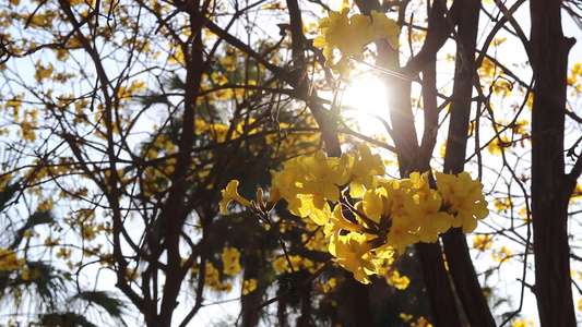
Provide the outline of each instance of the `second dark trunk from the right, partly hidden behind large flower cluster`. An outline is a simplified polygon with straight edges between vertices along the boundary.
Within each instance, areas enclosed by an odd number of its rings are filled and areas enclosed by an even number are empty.
[[[464,170],[468,138],[474,78],[476,78],[475,51],[479,17],[479,1],[455,1],[463,13],[459,16],[456,65],[453,86],[454,99],[450,108],[449,135],[444,156],[444,172]],[[460,228],[451,229],[442,237],[444,254],[449,263],[456,294],[471,326],[492,326],[495,319],[475,274],[468,253],[466,237]]]

